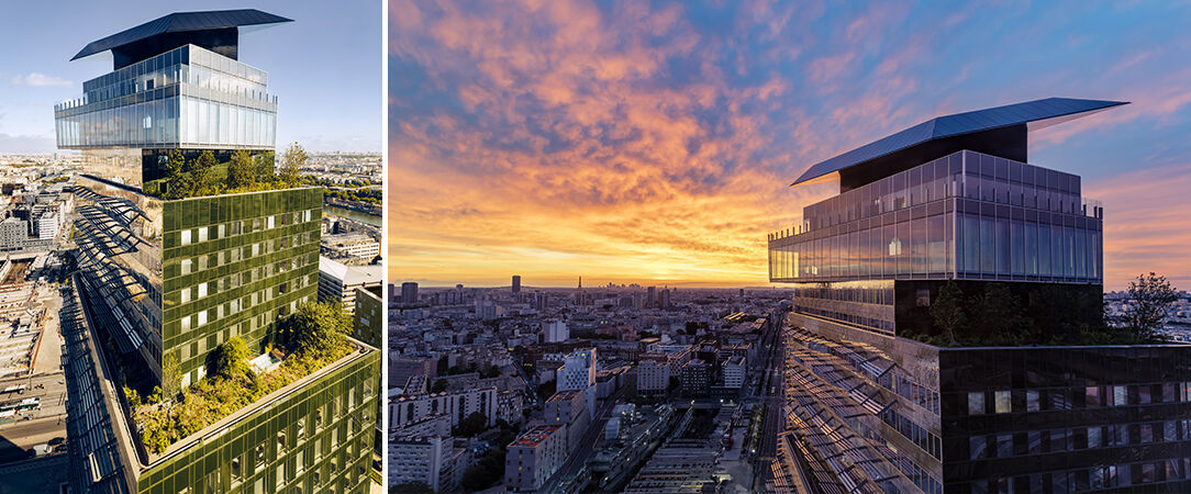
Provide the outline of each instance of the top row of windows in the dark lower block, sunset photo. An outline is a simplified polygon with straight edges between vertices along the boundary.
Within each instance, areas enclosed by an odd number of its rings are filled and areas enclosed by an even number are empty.
[[[967,414],[1042,412],[1191,401],[1191,382],[968,392]]]

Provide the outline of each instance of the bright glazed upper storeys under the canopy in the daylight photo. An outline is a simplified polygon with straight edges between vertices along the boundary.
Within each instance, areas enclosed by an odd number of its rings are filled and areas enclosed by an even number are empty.
[[[185,45],[83,82],[55,106],[58,148],[272,149],[278,99],[257,68]]]

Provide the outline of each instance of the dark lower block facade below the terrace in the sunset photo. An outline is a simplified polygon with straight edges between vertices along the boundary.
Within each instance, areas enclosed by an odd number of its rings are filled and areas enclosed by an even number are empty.
[[[947,492],[1187,492],[1185,345],[943,349]]]

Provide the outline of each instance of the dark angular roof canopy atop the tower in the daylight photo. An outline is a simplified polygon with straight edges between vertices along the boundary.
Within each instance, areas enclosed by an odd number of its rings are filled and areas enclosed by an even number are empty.
[[[255,8],[175,12],[92,42],[70,60],[111,50],[116,65],[113,70],[118,70],[185,44],[199,45],[236,60],[239,27],[292,21]]]

